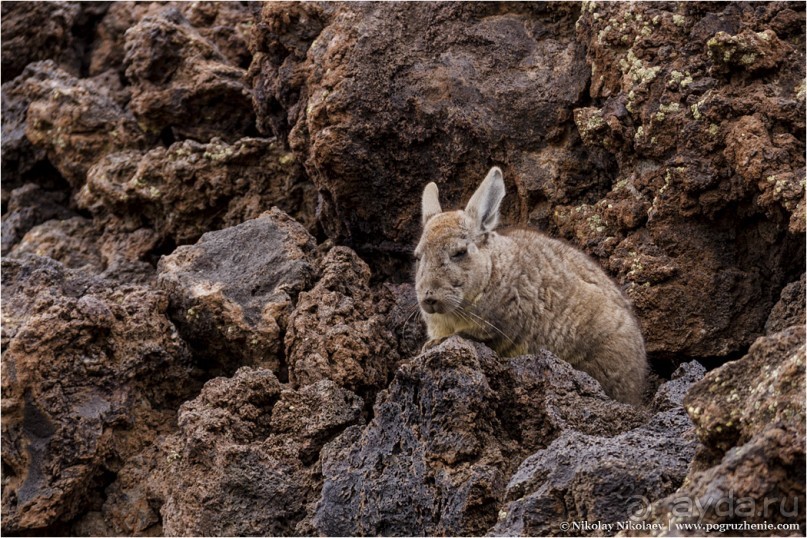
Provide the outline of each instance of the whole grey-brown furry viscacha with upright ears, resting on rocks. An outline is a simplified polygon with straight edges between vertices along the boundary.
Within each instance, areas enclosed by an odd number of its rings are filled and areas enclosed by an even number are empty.
[[[630,304],[602,269],[537,231],[494,231],[504,197],[498,168],[464,211],[442,212],[437,196],[429,184],[415,249],[418,302],[430,338],[424,349],[454,334],[486,342],[504,357],[546,348],[598,380],[612,398],[640,403],[644,341]]]

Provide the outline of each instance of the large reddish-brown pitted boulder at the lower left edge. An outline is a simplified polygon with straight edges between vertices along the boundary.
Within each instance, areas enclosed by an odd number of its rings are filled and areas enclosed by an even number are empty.
[[[81,515],[193,388],[166,296],[3,261],[3,531]]]

